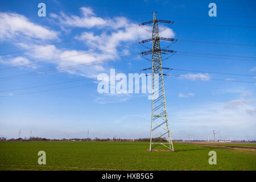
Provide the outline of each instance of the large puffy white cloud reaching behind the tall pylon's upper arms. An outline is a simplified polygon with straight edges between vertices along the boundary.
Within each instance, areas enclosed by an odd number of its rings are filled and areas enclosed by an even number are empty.
[[[93,13],[93,10],[89,7],[81,7],[82,16],[71,15],[67,16],[63,13],[60,16],[52,14],[52,18],[58,18],[62,25],[72,27],[85,27],[85,28],[105,28],[108,27],[110,33],[103,32],[95,33],[96,31],[84,31],[79,36],[76,36],[79,40],[84,40],[87,46],[92,48],[106,48],[116,47],[121,42],[131,42],[134,40],[141,40],[150,37],[143,28],[139,27],[138,24],[132,23],[129,19],[123,16],[117,16],[114,18],[101,18]],[[122,29],[120,29],[122,28]],[[144,28],[151,29],[150,26],[144,26]],[[164,27],[161,27],[164,28]],[[167,38],[173,38],[174,32],[171,28],[166,28],[161,33],[162,36]],[[115,50],[112,50],[115,52]]]

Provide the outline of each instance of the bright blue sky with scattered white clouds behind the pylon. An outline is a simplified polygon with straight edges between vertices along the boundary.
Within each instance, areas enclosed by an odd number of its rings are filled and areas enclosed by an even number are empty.
[[[19,130],[21,137],[30,137],[31,130],[33,136],[47,138],[85,138],[88,130],[91,138],[150,137],[147,94],[100,94],[96,78],[110,68],[127,74],[151,67],[137,55],[146,51],[137,42],[151,34],[136,24],[158,11],[157,18],[175,22],[170,27],[159,24],[167,28],[160,36],[180,40],[169,48],[177,55],[163,61],[164,67],[174,68],[174,76],[164,80],[172,137],[205,139],[216,130],[218,139],[256,139],[255,1],[43,1],[46,17],[39,17],[40,2],[0,2],[0,137],[17,138]],[[217,5],[217,17],[208,16],[211,2]],[[32,64],[38,61],[42,64]],[[91,65],[61,70],[81,64]],[[60,82],[67,83],[12,90]]]

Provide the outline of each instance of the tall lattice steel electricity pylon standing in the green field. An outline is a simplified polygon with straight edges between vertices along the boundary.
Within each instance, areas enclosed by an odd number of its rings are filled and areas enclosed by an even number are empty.
[[[167,118],[166,96],[164,94],[163,82],[163,76],[166,75],[163,73],[163,69],[169,69],[170,71],[171,69],[162,67],[161,54],[173,54],[175,53],[175,51],[161,49],[160,40],[167,40],[171,42],[177,40],[159,37],[158,22],[172,23],[169,20],[156,19],[155,12],[153,12],[153,20],[140,24],[140,26],[144,26],[145,24],[150,23],[153,24],[152,38],[139,42],[139,44],[143,44],[152,41],[152,49],[150,49],[149,51],[139,53],[139,55],[141,56],[150,55],[152,53],[152,67],[142,69],[142,71],[152,69],[152,115],[149,151],[151,151],[156,146],[160,145],[163,145],[164,147],[167,147],[169,150],[174,151],[170,127]]]

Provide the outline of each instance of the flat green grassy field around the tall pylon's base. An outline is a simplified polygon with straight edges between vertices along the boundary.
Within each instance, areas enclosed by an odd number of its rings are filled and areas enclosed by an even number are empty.
[[[255,170],[256,152],[174,143],[176,152],[147,152],[148,142],[0,142],[0,170]],[[46,165],[38,152],[46,152]],[[209,151],[217,164],[208,163]]]

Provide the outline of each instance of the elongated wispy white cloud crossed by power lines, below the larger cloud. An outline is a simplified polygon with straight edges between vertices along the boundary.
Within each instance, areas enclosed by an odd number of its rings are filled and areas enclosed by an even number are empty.
[[[26,55],[32,59],[56,64],[57,69],[61,72],[90,78],[95,78],[99,72],[104,71],[104,67],[100,63],[117,59],[117,56],[106,52],[58,49],[53,45],[35,47]],[[105,66],[105,68],[107,67]]]

